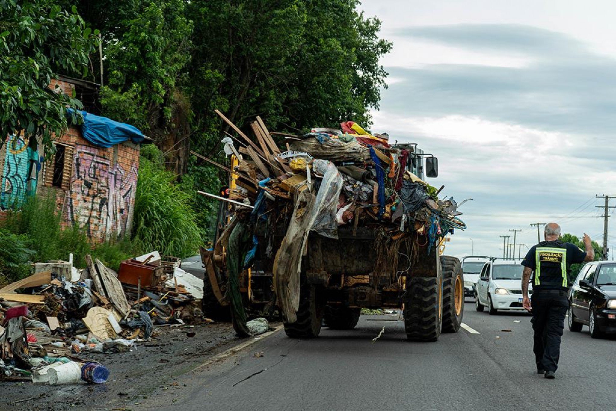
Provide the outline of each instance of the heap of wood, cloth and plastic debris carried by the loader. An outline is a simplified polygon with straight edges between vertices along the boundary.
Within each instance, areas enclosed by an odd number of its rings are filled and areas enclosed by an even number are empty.
[[[430,250],[450,230],[466,228],[453,197],[440,199],[443,187],[436,189],[411,172],[422,158],[412,144],[392,145],[387,134],[371,134],[352,121],[341,123],[341,129],[315,128],[304,136],[270,134],[259,117],[250,124],[253,140],[217,114],[241,137],[222,140],[225,153],[237,162],[232,160],[228,168],[193,154],[233,177],[228,195],[200,194],[229,203],[232,218],[211,258],[224,261],[227,298],[240,335],[249,332],[243,327],[238,278],[256,255],[275,255],[277,304],[285,322],[292,323],[310,232],[337,239],[341,227],[348,227],[353,235],[362,227],[374,229],[375,272],[389,275],[395,283],[400,279],[398,250],[413,249],[408,246],[413,241],[427,244]],[[286,150],[278,147],[272,134],[285,137]],[[274,238],[280,227],[283,239],[277,243]],[[257,237],[263,235],[269,239],[259,242]]]

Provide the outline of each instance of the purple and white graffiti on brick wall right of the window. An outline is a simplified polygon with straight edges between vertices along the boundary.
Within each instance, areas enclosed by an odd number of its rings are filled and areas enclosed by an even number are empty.
[[[111,165],[97,149],[75,146],[68,217],[91,238],[124,235],[131,227],[131,208],[137,189],[137,167]]]

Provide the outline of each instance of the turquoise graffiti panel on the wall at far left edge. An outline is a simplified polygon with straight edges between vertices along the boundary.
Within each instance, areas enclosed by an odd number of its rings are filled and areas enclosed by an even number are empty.
[[[13,208],[36,191],[40,163],[36,150],[22,137],[7,137],[4,168],[0,176],[0,208]]]

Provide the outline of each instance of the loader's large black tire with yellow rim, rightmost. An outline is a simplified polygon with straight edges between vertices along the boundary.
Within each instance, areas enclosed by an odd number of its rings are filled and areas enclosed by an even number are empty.
[[[443,267],[443,330],[457,333],[464,315],[464,274],[460,260],[452,256],[440,256]]]

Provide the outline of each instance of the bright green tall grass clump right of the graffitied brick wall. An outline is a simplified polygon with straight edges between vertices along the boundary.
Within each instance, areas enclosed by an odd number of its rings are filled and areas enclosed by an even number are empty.
[[[201,244],[201,230],[195,223],[193,193],[174,184],[175,176],[166,171],[153,145],[142,148],[137,180],[133,234],[144,250],[187,257]]]

